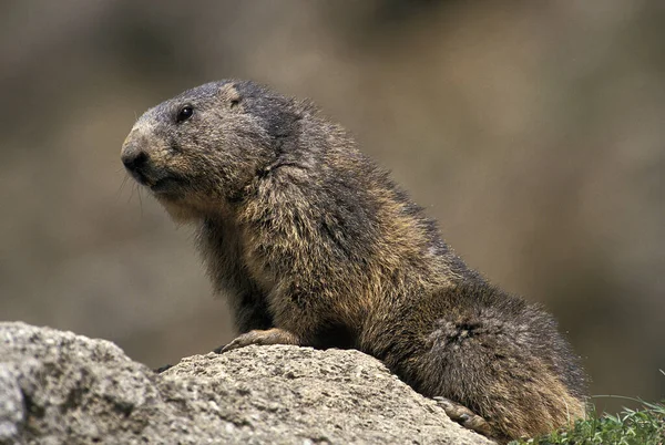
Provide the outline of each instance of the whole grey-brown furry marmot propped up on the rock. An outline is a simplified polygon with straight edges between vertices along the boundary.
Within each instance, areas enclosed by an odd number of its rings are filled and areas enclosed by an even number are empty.
[[[196,226],[241,333],[222,351],[355,348],[502,442],[584,416],[585,379],[552,317],[468,268],[309,102],[208,83],[145,112],[122,162]]]

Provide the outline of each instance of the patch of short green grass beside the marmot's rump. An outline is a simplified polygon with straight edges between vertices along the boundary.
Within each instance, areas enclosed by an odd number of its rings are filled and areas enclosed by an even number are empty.
[[[511,445],[665,445],[665,401],[638,401],[637,410],[624,408],[616,415],[591,413],[567,430],[529,441],[513,441]]]

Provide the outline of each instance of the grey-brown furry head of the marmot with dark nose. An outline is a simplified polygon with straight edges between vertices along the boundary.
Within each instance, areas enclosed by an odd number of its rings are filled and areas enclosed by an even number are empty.
[[[248,81],[207,83],[145,112],[122,162],[176,219],[223,211],[283,155],[297,134],[296,108]]]

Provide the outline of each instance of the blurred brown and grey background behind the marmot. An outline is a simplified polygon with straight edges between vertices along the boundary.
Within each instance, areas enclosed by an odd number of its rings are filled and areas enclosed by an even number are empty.
[[[150,366],[232,339],[192,246],[127,180],[136,116],[248,77],[349,128],[593,394],[665,397],[665,3],[3,1],[0,319]],[[630,402],[597,399],[598,410]]]

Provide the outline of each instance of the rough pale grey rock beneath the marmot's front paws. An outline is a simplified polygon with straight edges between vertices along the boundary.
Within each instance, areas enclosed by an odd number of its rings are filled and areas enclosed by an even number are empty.
[[[0,444],[490,444],[357,351],[249,346],[155,374],[109,341],[0,323]]]

